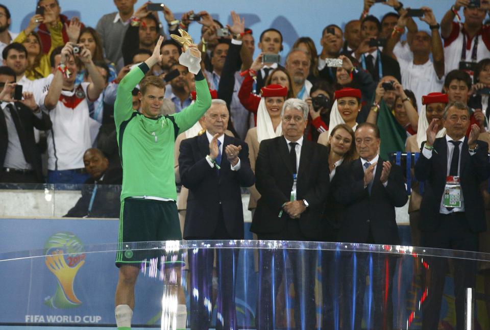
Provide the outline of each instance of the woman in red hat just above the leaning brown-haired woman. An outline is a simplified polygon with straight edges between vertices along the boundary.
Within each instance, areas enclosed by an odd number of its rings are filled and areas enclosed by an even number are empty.
[[[357,114],[361,110],[361,91],[356,88],[342,88],[334,94],[335,102],[330,112],[330,127],[347,124],[353,131],[357,127]],[[329,144],[329,131],[320,134],[318,143]]]

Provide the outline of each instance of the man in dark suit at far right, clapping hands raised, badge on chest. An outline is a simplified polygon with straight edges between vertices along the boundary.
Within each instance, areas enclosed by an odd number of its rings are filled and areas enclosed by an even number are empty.
[[[425,181],[420,206],[421,246],[478,251],[478,234],[486,230],[485,207],[479,185],[490,175],[487,143],[477,140],[480,129],[470,125],[468,106],[450,102],[443,115],[446,136],[435,138],[438,128],[433,119],[422,144],[421,157],[415,164],[415,176]],[[430,294],[422,305],[422,329],[436,329],[444,280],[448,270],[445,258],[427,258]],[[456,329],[464,326],[464,294],[475,288],[477,264],[473,260],[454,259],[454,296]]]

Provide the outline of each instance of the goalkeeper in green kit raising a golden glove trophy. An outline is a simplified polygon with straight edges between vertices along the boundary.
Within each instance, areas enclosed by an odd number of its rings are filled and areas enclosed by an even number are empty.
[[[155,76],[145,77],[145,73],[160,63],[162,41],[163,37],[160,37],[153,55],[134,67],[120,81],[117,89],[114,120],[123,171],[119,243],[182,239],[176,206],[174,142],[180,133],[191,128],[211,106],[208,84],[203,72],[199,71],[195,75],[195,103],[179,113],[160,115],[165,83]],[[201,56],[196,45],[190,45],[189,50],[194,57]],[[138,83],[140,113],[133,110],[132,100],[132,90]],[[180,270],[173,266],[181,265],[182,258],[171,258],[170,255],[165,256],[165,253],[156,256],[149,254],[149,250],[132,251],[120,246],[116,256],[119,280],[115,295],[118,329],[131,328],[134,286],[139,267],[142,262],[150,262],[152,258],[157,258],[154,260],[160,262],[161,271],[165,272],[165,281],[177,276],[177,283],[174,284],[179,287]],[[181,329],[185,328],[187,312],[185,300],[182,300],[183,291],[179,291],[179,302],[182,304],[170,307],[174,308],[170,314],[177,315],[177,328]],[[172,293],[174,294],[177,292]],[[162,326],[164,323],[174,323],[173,320],[164,320],[165,317],[163,313]]]

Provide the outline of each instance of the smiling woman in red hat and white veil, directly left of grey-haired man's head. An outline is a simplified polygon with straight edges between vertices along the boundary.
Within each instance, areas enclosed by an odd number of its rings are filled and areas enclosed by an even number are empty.
[[[270,77],[270,75],[269,75]],[[249,145],[250,167],[255,172],[255,161],[262,140],[282,135],[281,111],[288,95],[288,89],[281,85],[268,85],[261,89],[262,97],[257,109],[257,125],[247,132],[245,142]],[[257,207],[260,194],[255,185],[250,188],[249,210]]]

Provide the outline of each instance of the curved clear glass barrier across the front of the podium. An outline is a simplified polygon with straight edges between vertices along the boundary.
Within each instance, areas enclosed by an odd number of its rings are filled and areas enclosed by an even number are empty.
[[[0,329],[114,327],[128,278],[133,329],[488,329],[488,269],[487,253],[409,246],[57,233],[0,254]]]

